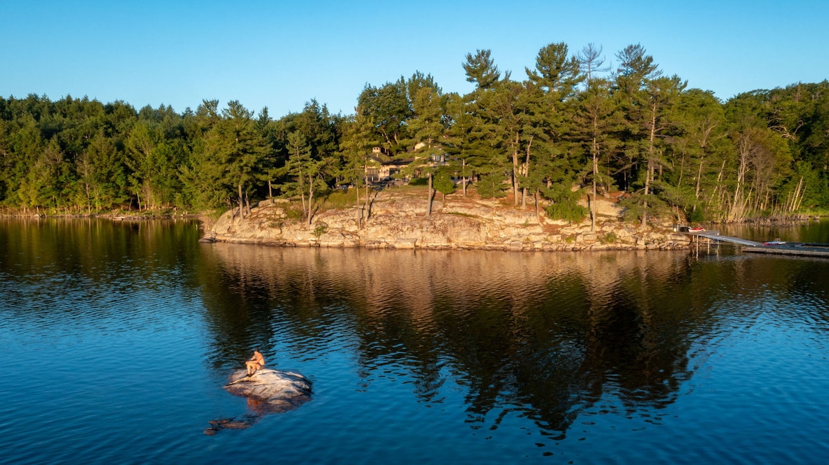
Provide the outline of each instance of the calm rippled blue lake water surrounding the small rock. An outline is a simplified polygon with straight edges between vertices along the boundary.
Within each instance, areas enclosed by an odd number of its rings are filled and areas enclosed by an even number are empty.
[[[829,242],[827,223],[741,233]],[[829,260],[198,237],[0,220],[0,463],[829,455]],[[203,434],[245,414],[221,386],[255,347],[313,380],[313,400]]]

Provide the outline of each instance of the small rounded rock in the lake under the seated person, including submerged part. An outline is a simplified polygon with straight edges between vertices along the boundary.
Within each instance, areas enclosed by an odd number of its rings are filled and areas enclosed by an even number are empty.
[[[230,375],[225,390],[248,400],[248,411],[235,418],[214,419],[205,429],[214,435],[222,429],[250,428],[264,415],[296,409],[311,400],[311,381],[294,372],[279,372],[263,368],[251,376],[245,370]]]

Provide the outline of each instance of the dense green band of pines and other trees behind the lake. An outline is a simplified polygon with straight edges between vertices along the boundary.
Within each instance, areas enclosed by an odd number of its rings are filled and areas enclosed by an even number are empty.
[[[316,101],[274,119],[239,102],[136,111],[123,101],[0,97],[0,204],[43,213],[110,209],[250,212],[257,199],[314,205],[337,185],[365,186],[372,147],[413,162],[429,211],[436,191],[473,185],[558,218],[621,191],[632,218],[741,221],[825,211],[829,83],[755,90],[722,102],[668,76],[640,45],[605,65],[601,47],[539,50],[526,78],[489,50],[466,56],[475,85],[444,93],[429,74],[374,86],[356,112]],[[439,162],[438,162],[439,161]],[[462,182],[458,182],[461,180]],[[361,202],[359,189],[356,202]],[[362,194],[365,201],[368,192]],[[594,202],[589,204],[594,205]]]

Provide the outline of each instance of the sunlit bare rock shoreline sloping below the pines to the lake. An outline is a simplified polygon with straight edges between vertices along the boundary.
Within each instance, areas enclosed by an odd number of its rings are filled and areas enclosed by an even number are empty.
[[[478,249],[502,251],[680,250],[688,238],[671,221],[642,228],[622,221],[623,209],[599,199],[597,222],[553,220],[539,209],[520,209],[460,195],[435,199],[426,215],[426,199],[384,190],[361,209],[330,209],[314,215],[311,225],[287,201],[259,203],[245,218],[224,213],[206,228],[202,242],[242,242],[284,247],[365,247],[395,249]]]

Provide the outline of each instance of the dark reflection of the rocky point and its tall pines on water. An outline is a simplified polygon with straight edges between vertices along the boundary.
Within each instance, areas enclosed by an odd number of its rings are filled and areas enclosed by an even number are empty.
[[[676,400],[712,330],[710,290],[728,291],[681,252],[204,247],[225,283],[203,287],[216,367],[277,339],[320,357],[339,338],[366,389],[377,373],[410,378],[435,403],[452,382],[473,429],[517,415],[560,437],[579,415]]]

